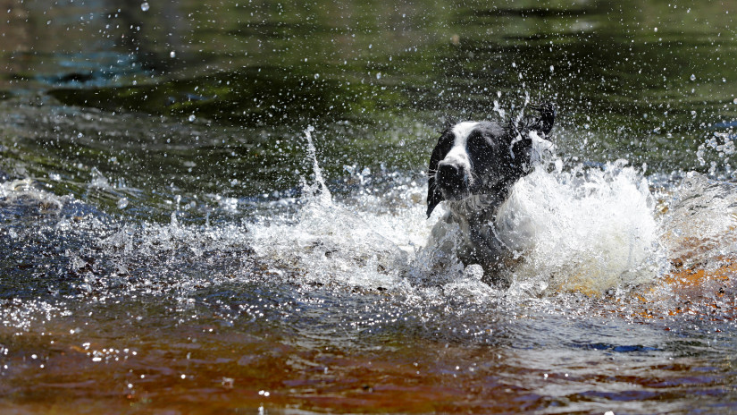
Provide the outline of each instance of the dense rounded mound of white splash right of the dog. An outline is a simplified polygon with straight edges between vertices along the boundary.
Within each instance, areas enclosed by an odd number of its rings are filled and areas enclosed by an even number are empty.
[[[500,207],[497,226],[523,258],[518,285],[603,292],[652,281],[663,263],[648,182],[622,161],[604,170],[533,171]]]

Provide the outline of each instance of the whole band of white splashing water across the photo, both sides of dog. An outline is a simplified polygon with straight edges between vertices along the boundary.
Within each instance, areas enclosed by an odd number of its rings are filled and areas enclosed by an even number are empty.
[[[176,216],[170,224],[117,230],[110,224],[100,228],[106,236],[97,238],[96,244],[114,259],[121,275],[128,272],[126,264],[147,262],[145,258],[160,258],[162,267],[170,263],[173,267],[179,257],[167,257],[170,253],[182,258],[185,253],[188,258],[236,255],[239,263],[250,263],[253,255],[270,274],[289,275],[298,284],[381,288],[425,299],[468,301],[510,293],[530,298],[626,290],[666,275],[671,258],[712,261],[718,267],[726,258],[724,252],[737,251],[730,236],[737,222],[733,185],[690,174],[671,190],[668,213],[657,216],[649,183],[626,162],[564,169],[561,160],[543,155],[498,211],[494,224],[498,236],[517,259],[508,274],[512,286],[501,291],[482,284],[481,267],[464,267],[456,258],[460,233],[456,225],[440,221],[445,213],[442,205],[429,220],[424,218],[424,183],[398,175],[390,194],[361,191],[348,199],[334,198],[317,162],[313,131],[307,129],[305,138],[314,181],[303,181],[301,198],[285,201],[296,210],[270,211],[244,225],[203,227],[182,224]],[[367,169],[353,172],[371,174]],[[356,182],[371,182],[360,179]],[[54,209],[71,202],[38,191],[29,181],[0,186],[0,203],[27,199]],[[86,219],[76,217],[63,216],[55,229],[80,228],[71,222]],[[433,228],[440,228],[444,236],[429,243]],[[72,254],[79,257],[71,252],[70,258]],[[72,267],[80,263],[75,258]]]

